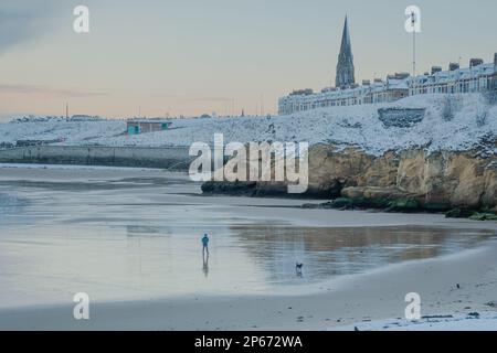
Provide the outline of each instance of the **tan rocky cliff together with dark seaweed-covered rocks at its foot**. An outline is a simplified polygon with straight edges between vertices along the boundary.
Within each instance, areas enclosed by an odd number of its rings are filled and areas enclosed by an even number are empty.
[[[287,196],[275,183],[214,183],[205,193]],[[294,195],[295,196],[295,195]],[[317,145],[309,151],[309,190],[303,197],[347,199],[353,205],[413,211],[497,211],[497,156],[478,150],[410,149],[372,156],[356,148]],[[339,205],[348,203],[340,200]],[[401,207],[399,205],[399,207]]]

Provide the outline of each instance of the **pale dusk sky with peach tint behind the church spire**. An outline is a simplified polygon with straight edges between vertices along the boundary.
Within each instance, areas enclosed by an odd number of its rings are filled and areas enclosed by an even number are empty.
[[[89,33],[73,30],[80,4]],[[0,117],[274,114],[335,82],[346,14],[358,82],[410,72],[411,4],[419,72],[493,61],[495,0],[1,0]]]

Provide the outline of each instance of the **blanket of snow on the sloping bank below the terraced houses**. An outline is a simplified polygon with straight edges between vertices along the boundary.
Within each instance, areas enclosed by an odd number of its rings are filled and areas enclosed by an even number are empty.
[[[445,114],[447,97],[454,111]],[[378,109],[426,108],[423,121],[411,128],[387,128],[379,120]],[[275,117],[236,117],[172,119],[172,129],[136,136],[124,135],[126,122],[46,121],[0,124],[0,143],[25,139],[64,139],[68,146],[190,146],[212,143],[214,133],[223,133],[224,142],[300,141],[310,145],[332,142],[357,146],[367,152],[382,154],[388,150],[424,147],[435,150],[467,150],[482,146],[497,153],[497,106],[489,106],[479,94],[420,95],[402,100],[350,107],[332,107]],[[493,141],[493,142],[491,142]]]

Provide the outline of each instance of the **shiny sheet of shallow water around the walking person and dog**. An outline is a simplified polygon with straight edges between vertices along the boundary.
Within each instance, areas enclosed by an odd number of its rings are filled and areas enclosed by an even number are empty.
[[[173,178],[0,181],[0,307],[71,302],[76,292],[96,301],[294,292],[495,236],[434,226],[294,226],[272,218],[275,208],[257,218],[230,197],[195,193],[198,185]],[[203,233],[211,235],[209,259]]]

